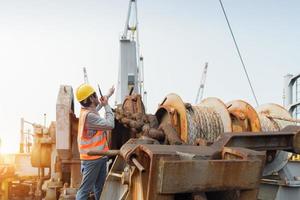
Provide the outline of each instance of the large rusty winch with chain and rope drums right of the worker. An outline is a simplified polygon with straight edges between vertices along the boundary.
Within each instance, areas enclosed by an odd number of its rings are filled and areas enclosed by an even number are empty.
[[[136,98],[135,102],[137,102]],[[127,104],[130,105],[128,102]],[[290,122],[292,120],[289,113],[279,105],[266,104],[255,110],[241,100],[224,104],[217,98],[207,98],[200,104],[191,106],[183,103],[176,94],[170,94],[160,104],[155,114],[156,122],[152,115],[142,116],[141,103],[135,105],[139,108],[135,109],[135,113],[128,113],[128,106],[123,106],[123,110],[116,110],[116,119],[129,129],[129,132],[134,132],[131,135],[137,135],[140,139],[130,140],[120,151],[107,153],[119,156],[108,175],[101,198],[103,200],[111,197],[113,199],[193,199],[199,193],[203,199],[226,199],[232,194],[235,194],[235,197],[229,199],[256,199],[262,176],[265,177],[263,183],[274,180],[269,176],[276,177],[276,180],[281,183],[289,183],[287,182],[289,178],[294,179],[290,176],[291,169],[287,165],[290,154],[286,151],[291,151],[290,147],[285,148],[281,144],[287,138],[279,138],[288,130],[299,133],[299,127],[284,129],[292,124]],[[228,133],[224,134],[224,132]],[[229,142],[231,139],[228,138],[235,138],[233,140],[236,141]],[[275,142],[277,139],[279,139],[278,143]],[[282,141],[279,142],[280,140]],[[275,145],[270,147],[272,142],[275,142]],[[227,149],[231,143],[238,150]],[[240,161],[243,153],[239,151],[243,151],[244,148],[262,156],[261,164],[256,168],[257,174],[250,172],[251,169],[255,169],[254,166],[248,166],[247,169],[242,166],[236,169],[233,167],[232,163],[235,163],[236,159]],[[90,153],[103,155],[103,152]],[[211,164],[223,161],[232,162],[229,164],[231,166],[228,166],[229,169],[225,166],[213,168],[217,164]],[[233,168],[234,170],[231,170]],[[250,174],[247,174],[248,172]],[[239,175],[235,176],[236,174]],[[248,176],[256,177],[256,182]],[[230,180],[237,185],[230,185]],[[248,181],[249,184],[256,183],[252,192],[249,192],[249,188],[239,188]],[[269,191],[263,186],[259,193],[260,199],[282,199],[282,196],[276,197],[276,193],[273,193],[275,198],[271,197]],[[243,190],[249,192],[245,193],[245,197]],[[289,199],[298,199],[298,192],[299,190],[294,190],[294,193],[289,195]]]

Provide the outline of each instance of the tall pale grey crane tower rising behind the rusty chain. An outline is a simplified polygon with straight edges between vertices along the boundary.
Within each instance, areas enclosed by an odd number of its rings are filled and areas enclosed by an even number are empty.
[[[116,104],[121,104],[129,91],[142,95],[144,91],[143,57],[140,53],[137,0],[129,0],[124,31],[120,38],[120,66]]]

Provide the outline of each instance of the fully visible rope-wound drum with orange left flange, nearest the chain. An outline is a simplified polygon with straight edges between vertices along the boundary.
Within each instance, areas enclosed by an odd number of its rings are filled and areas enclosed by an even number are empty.
[[[184,104],[176,94],[169,94],[156,112],[159,123],[166,120],[175,127],[188,144],[197,139],[214,142],[223,132],[231,132],[231,120],[226,105],[217,98],[204,99],[199,105]]]

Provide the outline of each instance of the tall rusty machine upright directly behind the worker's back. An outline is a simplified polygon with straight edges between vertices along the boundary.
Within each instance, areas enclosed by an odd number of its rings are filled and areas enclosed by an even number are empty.
[[[45,192],[48,197],[53,197],[54,194],[56,198],[59,194],[61,197],[68,197],[69,195],[64,196],[63,193],[69,193],[69,187],[78,188],[81,182],[77,145],[78,118],[74,113],[74,96],[71,86],[60,86],[56,102],[56,123],[51,129],[49,135],[55,142],[51,146],[51,159],[49,159],[52,172],[51,179],[48,178],[50,185],[46,187]],[[69,184],[62,188],[65,182]],[[60,189],[62,189],[61,193],[58,192]]]

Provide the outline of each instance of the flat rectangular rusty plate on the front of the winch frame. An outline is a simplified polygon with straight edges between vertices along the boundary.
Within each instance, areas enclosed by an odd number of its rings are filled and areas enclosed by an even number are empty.
[[[253,189],[259,185],[262,162],[262,160],[161,161],[159,192],[176,194]]]

